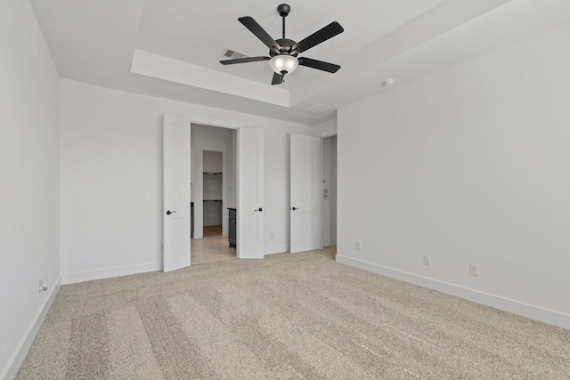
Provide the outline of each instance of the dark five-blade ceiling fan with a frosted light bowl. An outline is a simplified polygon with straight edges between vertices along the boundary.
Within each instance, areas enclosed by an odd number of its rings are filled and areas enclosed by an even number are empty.
[[[269,36],[265,29],[262,28],[252,17],[240,17],[238,20],[269,48],[269,57],[239,58],[236,60],[220,61],[220,63],[223,65],[232,65],[235,63],[269,61],[269,66],[271,66],[271,69],[273,69],[274,72],[273,80],[271,82],[272,85],[280,85],[283,83],[283,77],[285,77],[286,74],[290,74],[295,71],[295,69],[297,69],[297,65],[336,73],[338,69],[340,69],[340,66],[338,65],[306,57],[297,58],[297,55],[299,53],[306,52],[315,45],[321,44],[333,36],[337,36],[344,32],[345,29],[342,28],[337,21],[334,21],[297,43],[289,38],[285,38],[285,18],[290,11],[291,7],[288,4],[281,4],[277,7],[277,12],[279,12],[279,15],[283,19],[283,38],[277,40],[274,40],[272,36]]]

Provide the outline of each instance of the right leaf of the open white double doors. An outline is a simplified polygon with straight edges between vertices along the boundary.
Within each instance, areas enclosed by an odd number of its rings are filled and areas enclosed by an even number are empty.
[[[237,249],[240,259],[264,258],[264,130],[238,130]]]

